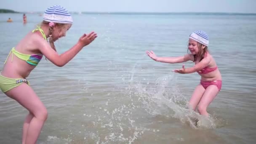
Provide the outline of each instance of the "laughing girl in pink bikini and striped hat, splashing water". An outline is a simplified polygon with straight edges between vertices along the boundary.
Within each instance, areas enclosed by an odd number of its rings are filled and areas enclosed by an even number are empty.
[[[194,67],[174,69],[173,72],[189,74],[197,72],[201,76],[200,84],[189,100],[189,108],[195,110],[196,107],[201,115],[209,116],[207,107],[221,90],[221,73],[215,60],[208,52],[209,37],[203,31],[196,31],[189,35],[188,54],[179,57],[157,57],[153,51],[146,51],[148,56],[165,63],[181,63],[185,61],[195,62]]]

